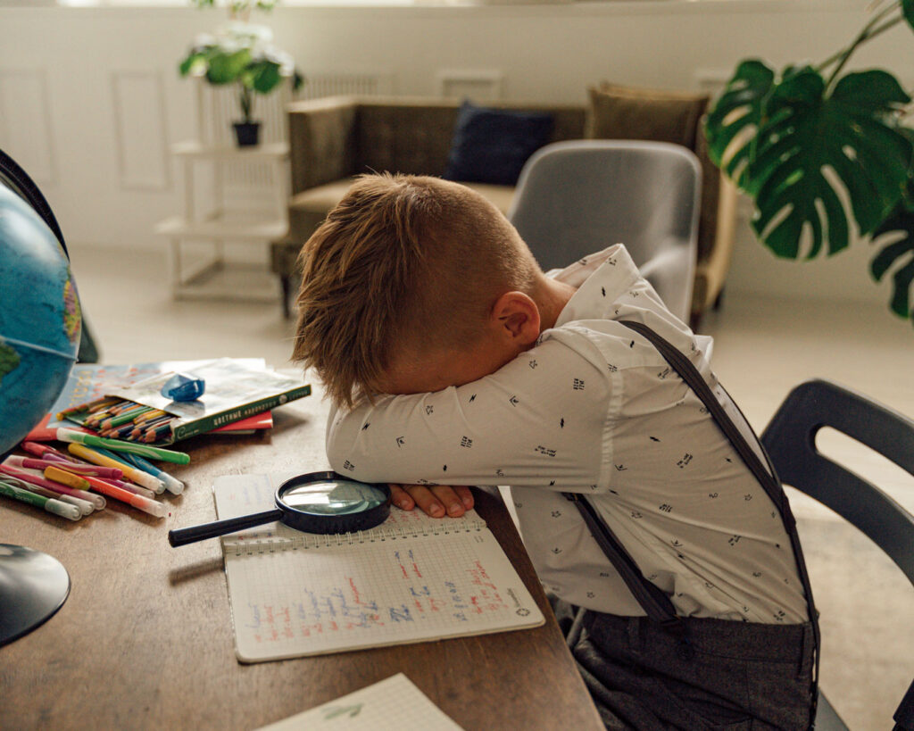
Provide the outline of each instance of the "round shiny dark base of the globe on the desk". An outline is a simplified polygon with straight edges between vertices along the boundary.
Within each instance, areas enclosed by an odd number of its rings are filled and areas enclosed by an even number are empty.
[[[36,629],[63,606],[69,574],[57,558],[0,544],[0,645]]]

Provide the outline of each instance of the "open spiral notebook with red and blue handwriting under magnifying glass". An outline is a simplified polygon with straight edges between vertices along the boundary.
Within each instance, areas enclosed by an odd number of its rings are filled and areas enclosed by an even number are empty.
[[[219,518],[271,508],[290,475],[228,475]],[[280,523],[222,539],[240,662],[536,627],[545,620],[475,511],[430,518],[391,510],[345,535]]]

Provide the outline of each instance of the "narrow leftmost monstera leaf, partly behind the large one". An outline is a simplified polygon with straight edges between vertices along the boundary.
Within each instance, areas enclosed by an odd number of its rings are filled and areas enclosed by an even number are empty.
[[[748,183],[738,173],[745,169],[751,154],[751,140],[729,150],[739,136],[757,131],[762,121],[764,101],[771,92],[774,71],[757,59],[739,64],[723,94],[707,114],[705,135],[708,154],[718,167],[725,169],[734,182],[743,187]],[[736,176],[735,176],[736,175]]]

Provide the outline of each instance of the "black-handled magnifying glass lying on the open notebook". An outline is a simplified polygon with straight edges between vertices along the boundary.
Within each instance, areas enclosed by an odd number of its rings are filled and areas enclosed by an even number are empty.
[[[185,546],[278,520],[306,533],[354,533],[374,528],[390,514],[387,485],[350,480],[333,471],[309,472],[276,488],[276,507],[168,531],[168,543]]]

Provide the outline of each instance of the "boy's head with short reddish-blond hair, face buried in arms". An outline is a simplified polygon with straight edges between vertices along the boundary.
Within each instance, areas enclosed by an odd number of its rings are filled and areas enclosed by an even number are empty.
[[[528,311],[543,274],[515,228],[464,185],[362,176],[300,263],[292,359],[338,404],[473,380],[538,334]],[[518,337],[503,342],[493,323]]]

